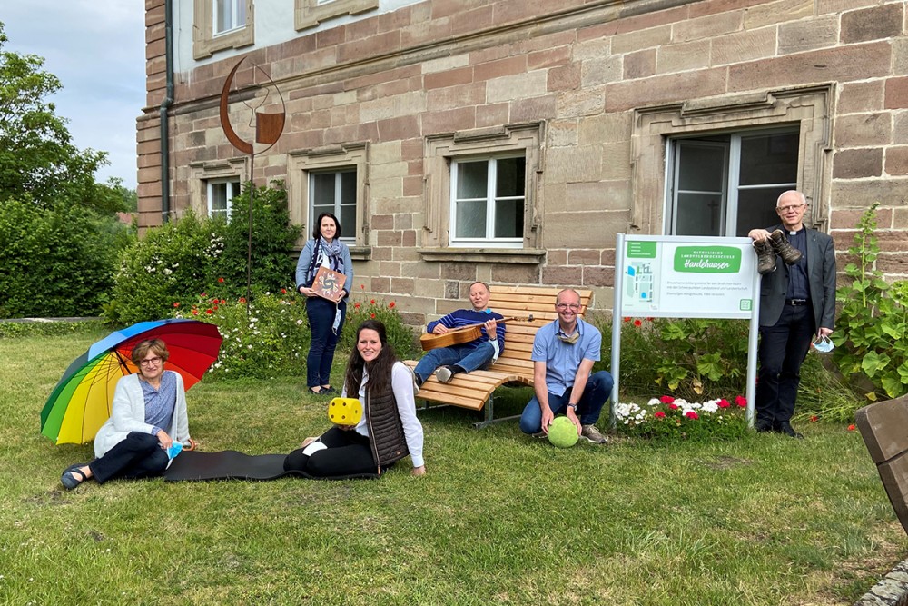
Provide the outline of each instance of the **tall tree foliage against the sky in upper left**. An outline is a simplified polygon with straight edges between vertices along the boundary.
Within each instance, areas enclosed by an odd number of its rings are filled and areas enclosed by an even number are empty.
[[[107,154],[78,149],[67,121],[47,101],[62,88],[60,80],[44,71],[42,57],[5,51],[7,40],[0,23],[0,203],[125,210],[111,184],[94,180]]]

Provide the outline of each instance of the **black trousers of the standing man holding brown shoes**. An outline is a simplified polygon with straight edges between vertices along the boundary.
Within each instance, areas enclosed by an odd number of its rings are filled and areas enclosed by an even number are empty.
[[[774,326],[760,328],[756,380],[756,423],[778,429],[791,421],[801,382],[801,364],[814,338],[814,310],[810,305],[785,304]]]

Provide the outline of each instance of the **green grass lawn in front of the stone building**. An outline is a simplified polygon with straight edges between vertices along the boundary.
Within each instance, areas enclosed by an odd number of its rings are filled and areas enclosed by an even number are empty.
[[[100,336],[0,339],[0,603],[846,604],[908,552],[861,436],[824,423],[558,450],[433,409],[424,478],[407,460],[379,481],[67,492],[91,446],[54,446],[39,412]],[[290,452],[328,426],[301,377],[203,381],[188,401],[204,451]]]

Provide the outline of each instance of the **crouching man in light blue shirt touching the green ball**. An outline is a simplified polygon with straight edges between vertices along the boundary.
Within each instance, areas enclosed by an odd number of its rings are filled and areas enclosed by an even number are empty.
[[[602,347],[602,334],[577,317],[580,295],[566,288],[558,293],[558,320],[541,327],[533,340],[533,385],[536,396],[520,415],[520,430],[536,437],[548,435],[555,415],[564,413],[587,442],[608,442],[596,427],[599,413],[612,392],[612,375],[592,373]]]

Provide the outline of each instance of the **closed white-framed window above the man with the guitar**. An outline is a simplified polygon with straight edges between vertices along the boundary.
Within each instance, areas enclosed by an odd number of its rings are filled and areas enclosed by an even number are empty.
[[[451,164],[450,245],[523,246],[527,160],[463,158]]]

